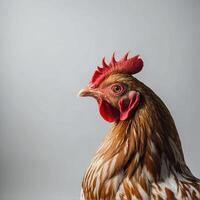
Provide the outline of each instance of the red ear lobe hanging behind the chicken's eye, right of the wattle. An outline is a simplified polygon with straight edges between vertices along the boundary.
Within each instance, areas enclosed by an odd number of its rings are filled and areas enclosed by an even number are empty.
[[[126,120],[131,111],[133,111],[139,104],[140,94],[136,91],[130,91],[128,95],[119,100],[120,120]]]

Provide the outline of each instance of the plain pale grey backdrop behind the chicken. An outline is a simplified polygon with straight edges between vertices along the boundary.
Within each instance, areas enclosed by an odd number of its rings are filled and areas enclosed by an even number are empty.
[[[110,124],[78,99],[102,56],[141,54],[200,177],[200,1],[0,0],[0,200],[79,199]]]

